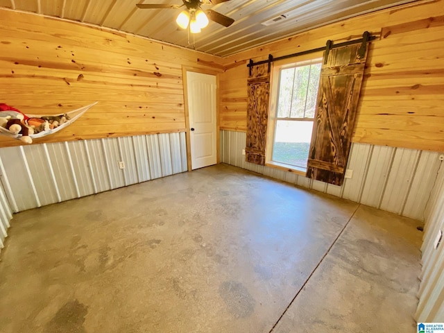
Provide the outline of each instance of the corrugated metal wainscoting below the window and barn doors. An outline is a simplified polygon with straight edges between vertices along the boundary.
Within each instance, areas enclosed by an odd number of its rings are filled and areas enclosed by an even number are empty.
[[[221,162],[420,221],[441,163],[436,152],[352,144],[353,176],[339,187],[245,162],[245,143],[246,133],[221,130]]]

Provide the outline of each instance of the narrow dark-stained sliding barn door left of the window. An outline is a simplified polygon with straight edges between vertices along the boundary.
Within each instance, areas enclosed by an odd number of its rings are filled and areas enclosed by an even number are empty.
[[[265,165],[270,65],[251,67],[248,76],[246,162]]]

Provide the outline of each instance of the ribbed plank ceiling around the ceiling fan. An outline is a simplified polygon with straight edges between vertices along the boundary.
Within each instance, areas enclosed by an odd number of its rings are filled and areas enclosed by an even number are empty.
[[[0,0],[0,7],[25,10],[126,31],[216,56],[231,56],[366,12],[415,0],[230,0],[203,5],[235,19],[225,28],[214,22],[188,37],[175,20],[182,9],[139,9],[136,3],[182,4],[182,0]],[[264,22],[284,15],[275,24]],[[326,38],[328,36],[325,36]]]

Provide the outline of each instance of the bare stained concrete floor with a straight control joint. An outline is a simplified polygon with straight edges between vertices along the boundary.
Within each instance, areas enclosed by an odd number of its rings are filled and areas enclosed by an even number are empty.
[[[15,215],[0,331],[414,332],[416,222],[227,165]]]

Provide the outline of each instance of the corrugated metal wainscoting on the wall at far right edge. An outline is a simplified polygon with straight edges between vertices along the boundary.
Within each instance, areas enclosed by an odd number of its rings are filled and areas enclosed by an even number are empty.
[[[439,169],[425,215],[420,300],[416,311],[416,321],[422,323],[444,322],[444,240],[435,248],[440,231],[444,232],[444,166]]]

